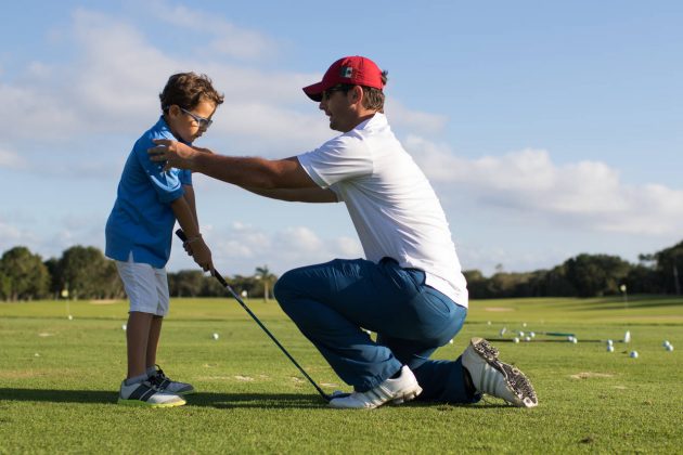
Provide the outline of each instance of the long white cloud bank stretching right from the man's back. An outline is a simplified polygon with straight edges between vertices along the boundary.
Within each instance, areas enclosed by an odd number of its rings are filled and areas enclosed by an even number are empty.
[[[600,161],[556,165],[542,150],[466,159],[412,135],[405,147],[435,182],[462,187],[482,204],[532,212],[605,232],[666,235],[683,231],[683,191],[628,185]]]

